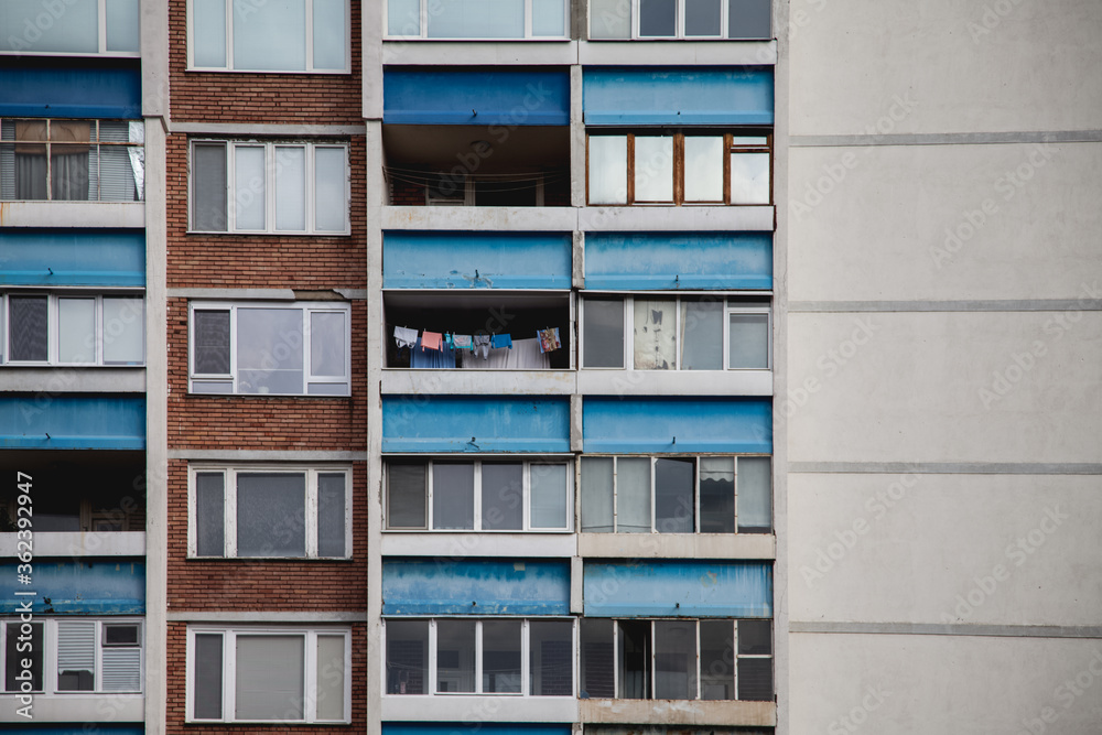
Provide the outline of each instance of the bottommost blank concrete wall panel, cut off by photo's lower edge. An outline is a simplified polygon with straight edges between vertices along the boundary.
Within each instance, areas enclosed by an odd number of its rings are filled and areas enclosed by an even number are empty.
[[[1102,722],[1099,640],[790,638],[792,733],[1093,735]]]

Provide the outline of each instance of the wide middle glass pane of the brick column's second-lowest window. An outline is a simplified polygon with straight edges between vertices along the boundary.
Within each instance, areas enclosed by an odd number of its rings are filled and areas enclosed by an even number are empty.
[[[238,473],[237,555],[306,555],[306,476]]]

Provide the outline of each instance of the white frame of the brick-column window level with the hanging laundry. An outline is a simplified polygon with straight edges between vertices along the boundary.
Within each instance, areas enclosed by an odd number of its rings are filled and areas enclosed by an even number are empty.
[[[237,369],[237,312],[239,309],[298,309],[302,311],[302,391],[298,393],[242,393],[238,391]],[[195,365],[195,312],[229,311],[229,372],[197,374]],[[345,374],[339,376],[312,376],[310,364],[310,316],[318,313],[342,313],[345,315]],[[198,382],[220,382],[230,386],[225,393],[213,391],[196,392],[193,385]],[[311,393],[311,385],[343,385],[343,393]],[[304,398],[347,398],[352,394],[352,306],[347,302],[333,301],[282,301],[282,302],[188,302],[187,304],[187,391],[197,396],[301,396]]]

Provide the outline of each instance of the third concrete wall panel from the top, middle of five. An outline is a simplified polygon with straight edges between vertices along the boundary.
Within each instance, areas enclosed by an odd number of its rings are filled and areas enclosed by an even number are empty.
[[[791,462],[1099,462],[1102,313],[789,315]]]

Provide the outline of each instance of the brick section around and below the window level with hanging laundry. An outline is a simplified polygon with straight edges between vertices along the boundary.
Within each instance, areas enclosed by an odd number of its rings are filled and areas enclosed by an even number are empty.
[[[169,447],[363,452],[367,448],[364,301],[352,303],[352,365],[348,398],[188,394],[187,300],[169,299]]]

